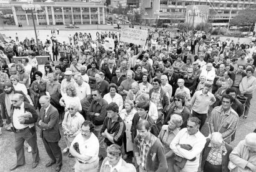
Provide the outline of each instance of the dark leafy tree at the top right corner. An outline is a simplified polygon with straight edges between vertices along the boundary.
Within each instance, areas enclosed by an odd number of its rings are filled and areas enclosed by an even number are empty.
[[[237,16],[230,20],[230,25],[254,25],[256,22],[256,6],[239,11]]]

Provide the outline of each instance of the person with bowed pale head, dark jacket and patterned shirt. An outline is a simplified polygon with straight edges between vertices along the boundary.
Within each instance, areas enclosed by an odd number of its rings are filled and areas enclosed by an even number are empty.
[[[212,133],[212,139],[207,138],[202,151],[201,170],[204,172],[229,172],[229,155],[232,146],[225,143],[222,134]]]

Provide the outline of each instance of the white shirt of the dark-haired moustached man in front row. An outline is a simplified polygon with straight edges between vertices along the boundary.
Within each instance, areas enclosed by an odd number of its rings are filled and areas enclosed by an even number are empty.
[[[77,134],[77,136],[71,143],[71,147],[73,147],[74,143],[76,142],[79,145],[81,155],[92,156],[92,158],[88,161],[80,161],[92,163],[93,161],[97,160],[99,154],[99,140],[93,133],[91,134],[91,137],[87,140],[84,140],[84,137],[81,133]]]

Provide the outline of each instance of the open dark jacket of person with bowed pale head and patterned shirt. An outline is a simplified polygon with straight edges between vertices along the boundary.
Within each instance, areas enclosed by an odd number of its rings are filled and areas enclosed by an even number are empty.
[[[201,162],[201,170],[204,170],[205,161],[207,159],[207,156],[210,153],[210,147],[209,146],[210,139],[207,138],[204,150],[202,151],[202,162]],[[220,172],[229,172],[229,168],[227,167],[229,165],[229,154],[232,152],[233,148],[228,143],[225,143],[225,147],[227,149],[227,153],[224,155],[222,153],[222,171]]]

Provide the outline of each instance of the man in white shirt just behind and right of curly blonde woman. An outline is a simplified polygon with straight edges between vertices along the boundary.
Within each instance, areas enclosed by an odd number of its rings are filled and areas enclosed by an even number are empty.
[[[91,88],[89,84],[86,83],[84,79],[82,79],[82,75],[80,73],[74,76],[74,80],[77,83],[75,84],[75,86],[76,86],[77,96],[79,97],[80,100],[84,99],[84,97],[91,94]]]

